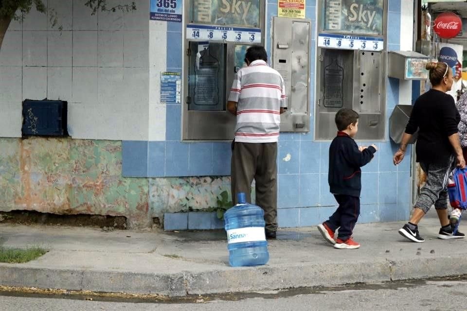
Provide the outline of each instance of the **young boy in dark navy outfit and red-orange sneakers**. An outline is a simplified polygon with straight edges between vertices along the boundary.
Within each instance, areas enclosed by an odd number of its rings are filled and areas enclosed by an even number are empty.
[[[352,231],[360,214],[360,167],[370,162],[377,151],[375,145],[359,147],[353,139],[359,130],[359,114],[341,108],[336,113],[337,136],[329,147],[329,188],[339,207],[323,224],[318,225],[323,238],[334,248],[355,249],[360,244],[352,240]],[[334,232],[339,234],[334,240]]]

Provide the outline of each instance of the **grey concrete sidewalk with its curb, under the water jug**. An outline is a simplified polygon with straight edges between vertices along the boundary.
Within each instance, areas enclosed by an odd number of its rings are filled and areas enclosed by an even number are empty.
[[[358,250],[334,249],[316,227],[281,229],[267,265],[240,268],[228,264],[223,230],[0,224],[4,246],[50,250],[28,263],[0,263],[0,285],[183,296],[466,275],[467,239],[437,239],[434,215],[421,222],[424,243],[402,238],[403,222],[357,225]]]

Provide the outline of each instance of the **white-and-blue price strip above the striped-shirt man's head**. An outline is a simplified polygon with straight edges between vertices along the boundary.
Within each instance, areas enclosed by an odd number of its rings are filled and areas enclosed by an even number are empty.
[[[216,40],[261,43],[261,30],[228,26],[187,25],[186,38],[195,40]]]

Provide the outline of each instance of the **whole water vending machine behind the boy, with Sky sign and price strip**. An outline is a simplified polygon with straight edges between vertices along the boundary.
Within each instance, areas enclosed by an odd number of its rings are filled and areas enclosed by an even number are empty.
[[[387,0],[319,1],[316,139],[336,135],[342,108],[357,111],[357,139],[384,139]]]

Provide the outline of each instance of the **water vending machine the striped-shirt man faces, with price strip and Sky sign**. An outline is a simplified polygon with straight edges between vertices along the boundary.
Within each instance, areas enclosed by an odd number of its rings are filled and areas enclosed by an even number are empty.
[[[182,139],[232,139],[227,99],[247,48],[264,45],[265,1],[186,3]]]

